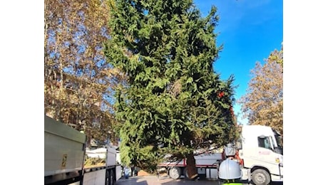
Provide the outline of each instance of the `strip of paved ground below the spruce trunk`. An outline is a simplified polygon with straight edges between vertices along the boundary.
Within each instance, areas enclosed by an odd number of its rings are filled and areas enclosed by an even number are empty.
[[[187,179],[170,179],[168,176],[160,176],[158,179],[157,176],[131,176],[129,179],[124,179],[122,177],[118,181],[116,181],[116,185],[218,185],[219,182],[215,180],[208,179],[199,179],[198,181],[190,181]],[[247,184],[245,184],[247,185]],[[282,185],[280,184],[272,184],[272,185]]]

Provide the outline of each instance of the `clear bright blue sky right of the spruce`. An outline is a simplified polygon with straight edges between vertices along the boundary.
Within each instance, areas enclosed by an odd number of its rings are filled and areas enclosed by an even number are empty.
[[[255,62],[264,59],[283,42],[282,0],[194,0],[203,16],[212,5],[217,7],[220,21],[216,28],[217,45],[223,44],[220,58],[215,62],[216,73],[222,79],[235,75],[235,98],[245,95],[250,70]],[[240,105],[234,105],[235,113]],[[238,122],[247,120],[238,117]]]

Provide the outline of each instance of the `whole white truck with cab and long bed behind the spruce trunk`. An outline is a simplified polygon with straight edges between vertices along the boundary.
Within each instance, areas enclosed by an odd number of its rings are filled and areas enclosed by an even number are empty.
[[[226,148],[228,149],[228,148]],[[225,154],[240,164],[242,180],[256,185],[267,185],[271,181],[283,181],[282,137],[275,129],[262,125],[244,125],[240,132],[240,140],[232,151],[223,153],[201,154],[195,156],[199,175],[218,179],[217,169]],[[186,161],[163,162],[158,165],[168,171],[172,179],[179,179],[185,173]]]

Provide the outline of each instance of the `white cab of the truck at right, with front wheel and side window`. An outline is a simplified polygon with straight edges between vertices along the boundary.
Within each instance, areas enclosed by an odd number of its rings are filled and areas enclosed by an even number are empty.
[[[242,179],[265,185],[270,181],[282,181],[282,137],[275,129],[263,125],[244,125],[238,143]]]

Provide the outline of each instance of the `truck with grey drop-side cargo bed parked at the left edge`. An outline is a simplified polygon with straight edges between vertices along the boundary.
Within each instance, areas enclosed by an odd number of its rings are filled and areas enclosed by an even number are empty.
[[[115,184],[121,178],[116,149],[107,146],[103,158],[104,164],[84,166],[86,134],[44,116],[44,184]]]

